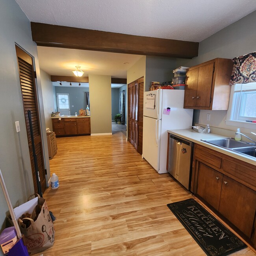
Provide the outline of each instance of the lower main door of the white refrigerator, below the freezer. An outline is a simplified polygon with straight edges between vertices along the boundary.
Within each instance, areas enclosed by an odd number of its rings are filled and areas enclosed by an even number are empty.
[[[142,157],[156,170],[159,171],[160,155],[160,127],[161,120],[143,117],[143,148]]]

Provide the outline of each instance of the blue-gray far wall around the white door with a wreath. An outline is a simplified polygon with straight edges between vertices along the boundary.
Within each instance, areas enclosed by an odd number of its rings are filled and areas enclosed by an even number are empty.
[[[89,92],[89,88],[72,87],[72,86],[70,87],[54,86],[54,87],[55,87],[56,95],[57,93],[69,93],[70,115],[75,115],[75,112],[77,112],[79,115],[79,109],[86,108],[85,92]],[[91,104],[91,95],[90,95],[90,104]]]

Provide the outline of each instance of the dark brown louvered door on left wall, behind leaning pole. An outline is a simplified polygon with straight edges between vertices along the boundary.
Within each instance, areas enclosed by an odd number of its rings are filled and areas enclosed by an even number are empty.
[[[41,191],[43,193],[46,189],[46,178],[45,178],[45,165],[44,165],[42,139],[41,139],[41,127],[39,122],[39,113],[38,113],[38,104],[37,104],[37,91],[35,87],[35,72],[33,69],[33,58],[29,54],[24,52],[22,49],[20,49],[18,46],[16,46],[16,54],[17,54],[17,61],[18,61],[18,68],[19,68],[24,115],[25,115],[25,121],[26,121],[26,130],[28,135],[28,147],[30,152],[30,162],[32,167],[34,190],[35,190],[35,193],[38,193],[37,181],[35,176],[35,165],[33,160],[31,135],[30,135],[30,126],[28,121],[28,110],[31,111],[35,153],[37,155],[37,164],[38,164],[39,177],[41,182]]]

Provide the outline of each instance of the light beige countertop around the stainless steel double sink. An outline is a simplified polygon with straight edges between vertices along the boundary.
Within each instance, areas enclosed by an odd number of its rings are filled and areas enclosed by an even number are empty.
[[[256,159],[252,156],[241,155],[241,154],[236,153],[234,151],[212,145],[212,144],[207,143],[205,141],[201,141],[201,139],[227,138],[226,136],[213,134],[213,133],[200,134],[198,132],[195,132],[193,129],[167,130],[167,132],[169,132],[170,134],[176,135],[178,137],[182,137],[184,139],[187,139],[188,141],[192,141],[194,143],[200,144],[204,147],[211,148],[213,150],[216,150],[216,151],[221,152],[223,154],[226,154],[228,156],[232,156],[232,157],[234,157],[236,159],[239,159],[241,161],[245,161],[245,162],[250,163],[252,165],[256,165]]]

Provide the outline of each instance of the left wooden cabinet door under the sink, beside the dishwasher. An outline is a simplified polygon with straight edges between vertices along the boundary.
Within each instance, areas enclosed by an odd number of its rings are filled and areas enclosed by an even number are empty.
[[[222,179],[223,174],[199,162],[196,194],[206,200],[216,210],[219,209]]]

